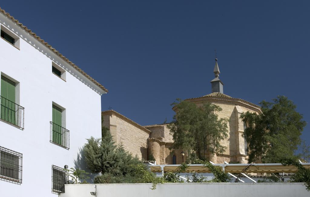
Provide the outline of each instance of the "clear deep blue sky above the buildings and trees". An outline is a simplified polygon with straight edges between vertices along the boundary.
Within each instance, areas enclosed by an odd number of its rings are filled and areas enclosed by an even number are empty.
[[[285,95],[309,122],[308,1],[4,1],[2,9],[95,78],[109,106],[141,125],[172,120],[175,98]],[[303,131],[310,143],[310,126]]]

